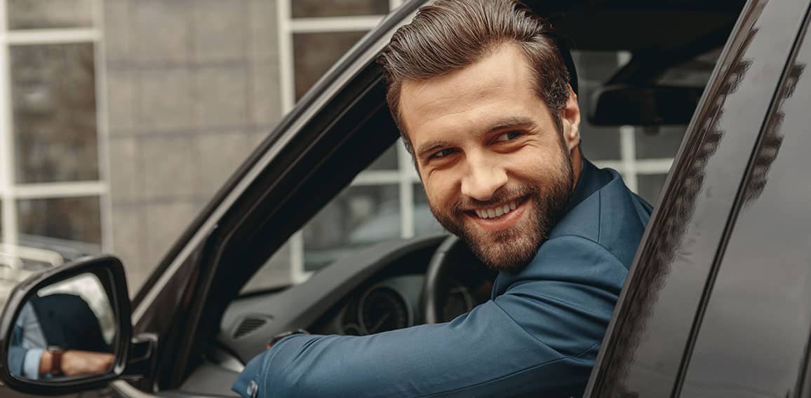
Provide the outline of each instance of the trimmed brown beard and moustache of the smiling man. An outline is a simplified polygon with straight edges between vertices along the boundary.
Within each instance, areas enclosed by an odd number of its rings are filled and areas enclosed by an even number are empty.
[[[552,227],[560,218],[572,194],[573,170],[568,152],[563,152],[557,173],[543,179],[513,186],[503,186],[487,201],[463,198],[453,203],[448,212],[440,211],[430,203],[431,212],[450,233],[457,235],[473,250],[474,255],[496,271],[518,272],[534,258],[541,244],[547,240]],[[474,225],[465,214],[466,208],[487,208],[497,203],[521,198],[532,204],[530,212],[521,217],[512,228],[487,231]]]

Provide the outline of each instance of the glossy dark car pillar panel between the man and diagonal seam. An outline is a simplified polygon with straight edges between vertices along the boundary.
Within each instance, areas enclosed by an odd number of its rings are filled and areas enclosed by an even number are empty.
[[[670,396],[807,0],[750,1],[706,88],[586,389]]]

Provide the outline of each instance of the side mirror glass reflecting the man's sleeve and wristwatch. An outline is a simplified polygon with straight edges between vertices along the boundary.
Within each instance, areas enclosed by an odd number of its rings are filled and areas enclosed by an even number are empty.
[[[101,280],[92,273],[45,286],[17,319],[8,369],[38,381],[106,374],[114,365],[118,323]]]

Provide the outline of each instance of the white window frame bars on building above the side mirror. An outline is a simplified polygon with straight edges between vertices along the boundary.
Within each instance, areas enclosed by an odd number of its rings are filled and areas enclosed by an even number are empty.
[[[103,74],[101,50],[102,28],[101,1],[92,0],[92,28],[42,28],[8,31],[6,1],[0,1],[0,203],[2,203],[2,254],[15,259],[22,254],[19,245],[17,216],[18,199],[53,199],[75,196],[98,197],[101,211],[101,246],[109,250],[112,242],[109,217],[109,186],[106,163],[105,96],[101,95],[100,78],[97,77],[97,136],[99,153],[99,181],[91,182],[45,182],[36,184],[16,183],[16,160],[14,120],[11,104],[12,45],[58,45],[68,43],[92,43],[97,73]],[[101,75],[103,76],[103,75]],[[12,266],[15,262],[9,262]]]

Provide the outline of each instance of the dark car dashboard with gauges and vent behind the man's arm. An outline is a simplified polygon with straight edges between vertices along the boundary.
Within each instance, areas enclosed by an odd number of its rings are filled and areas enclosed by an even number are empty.
[[[364,336],[422,324],[425,274],[445,238],[384,242],[338,259],[301,285],[240,297],[225,310],[217,346],[247,363],[285,331]],[[470,259],[453,264],[448,276],[442,321],[487,302],[496,272]]]

